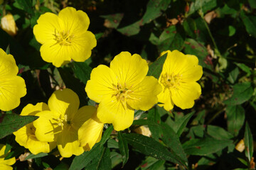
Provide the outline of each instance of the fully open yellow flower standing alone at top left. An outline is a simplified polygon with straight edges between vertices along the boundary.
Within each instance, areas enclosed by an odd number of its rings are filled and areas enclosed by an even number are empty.
[[[44,13],[33,28],[36,40],[42,44],[41,56],[60,67],[70,60],[84,62],[96,46],[95,35],[87,31],[90,20],[83,11],[67,7],[55,15]]]

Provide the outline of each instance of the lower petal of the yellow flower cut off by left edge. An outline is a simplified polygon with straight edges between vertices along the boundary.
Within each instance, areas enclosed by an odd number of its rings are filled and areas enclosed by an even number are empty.
[[[10,111],[20,104],[20,98],[26,95],[26,84],[21,77],[0,79],[0,109]]]

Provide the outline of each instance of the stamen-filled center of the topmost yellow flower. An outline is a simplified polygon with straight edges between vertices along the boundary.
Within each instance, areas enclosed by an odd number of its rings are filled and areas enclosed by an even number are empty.
[[[56,44],[59,45],[71,45],[72,39],[74,37],[73,34],[70,33],[70,31],[57,31],[55,30],[54,40],[56,41]]]

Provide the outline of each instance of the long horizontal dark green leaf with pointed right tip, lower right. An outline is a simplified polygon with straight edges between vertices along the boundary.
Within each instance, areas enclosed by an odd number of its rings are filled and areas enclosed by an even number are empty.
[[[186,154],[206,155],[218,152],[232,143],[233,140],[216,140],[211,137],[206,137],[203,139],[188,140],[183,143],[182,147]]]

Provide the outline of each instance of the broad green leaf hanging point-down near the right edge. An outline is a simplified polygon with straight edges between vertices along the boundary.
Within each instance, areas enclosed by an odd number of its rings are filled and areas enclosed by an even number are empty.
[[[226,108],[228,131],[233,135],[238,135],[239,130],[245,121],[245,110],[240,105],[228,106]]]

